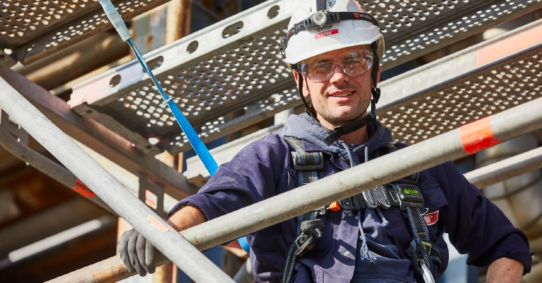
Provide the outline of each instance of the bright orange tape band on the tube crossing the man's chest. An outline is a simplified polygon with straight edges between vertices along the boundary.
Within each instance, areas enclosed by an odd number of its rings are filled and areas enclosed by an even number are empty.
[[[473,154],[501,142],[493,136],[491,118],[485,117],[459,128],[461,144],[466,153]]]

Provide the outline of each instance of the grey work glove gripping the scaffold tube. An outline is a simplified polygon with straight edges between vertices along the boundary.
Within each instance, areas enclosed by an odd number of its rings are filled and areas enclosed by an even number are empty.
[[[145,276],[147,273],[154,273],[156,269],[155,259],[158,249],[135,229],[125,231],[120,236],[118,254],[131,273],[137,272]]]

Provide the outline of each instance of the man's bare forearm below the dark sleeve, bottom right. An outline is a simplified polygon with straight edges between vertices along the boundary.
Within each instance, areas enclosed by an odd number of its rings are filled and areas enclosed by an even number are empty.
[[[523,275],[523,263],[515,259],[501,257],[493,261],[487,268],[487,283],[520,282]]]

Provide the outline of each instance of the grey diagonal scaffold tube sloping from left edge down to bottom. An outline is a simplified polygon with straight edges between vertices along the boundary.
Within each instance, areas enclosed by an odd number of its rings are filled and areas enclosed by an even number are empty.
[[[218,266],[125,189],[4,78],[0,80],[0,108],[194,281],[232,282]]]

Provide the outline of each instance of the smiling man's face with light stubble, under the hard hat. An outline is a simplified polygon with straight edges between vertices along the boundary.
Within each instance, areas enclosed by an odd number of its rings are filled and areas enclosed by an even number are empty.
[[[333,50],[304,62],[307,64],[317,60],[341,62],[350,52],[360,51],[363,48],[367,47],[354,46]],[[335,65],[333,74],[326,80],[313,81],[303,77],[301,79],[305,80],[303,96],[310,97],[319,122],[328,129],[348,124],[352,119],[365,114],[370,105],[370,71],[349,76],[340,66]]]

